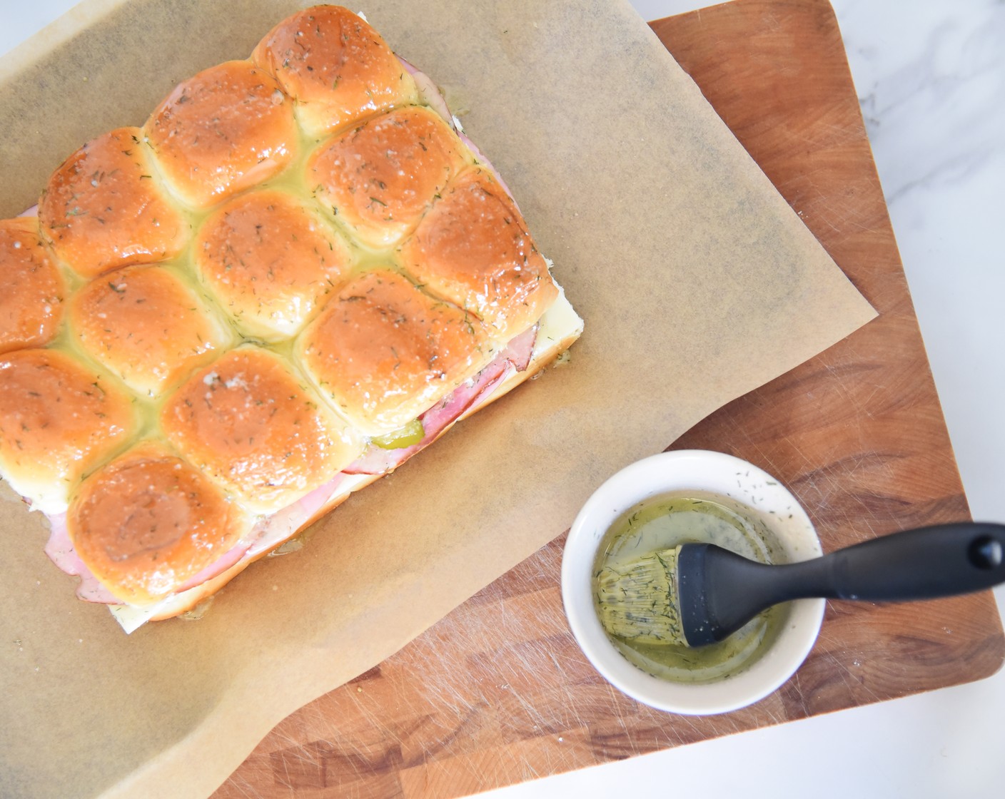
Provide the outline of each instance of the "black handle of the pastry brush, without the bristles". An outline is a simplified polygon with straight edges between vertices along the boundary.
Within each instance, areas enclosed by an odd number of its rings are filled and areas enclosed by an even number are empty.
[[[1005,582],[1005,526],[959,522],[909,530],[803,563],[766,566],[708,544],[677,558],[681,620],[691,646],[721,641],[792,599],[907,601]],[[693,637],[693,641],[692,641]]]

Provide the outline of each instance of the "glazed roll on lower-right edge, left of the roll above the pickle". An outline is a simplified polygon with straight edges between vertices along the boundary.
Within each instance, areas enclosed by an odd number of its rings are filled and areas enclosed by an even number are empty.
[[[260,513],[317,488],[363,448],[281,358],[250,346],[190,377],[161,424],[185,457]]]

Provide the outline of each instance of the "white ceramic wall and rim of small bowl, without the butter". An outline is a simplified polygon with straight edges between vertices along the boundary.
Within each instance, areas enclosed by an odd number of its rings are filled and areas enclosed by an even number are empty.
[[[784,560],[822,552],[813,524],[799,502],[774,477],[722,452],[662,452],[625,467],[601,485],[576,517],[562,558],[562,599],[576,640],[596,669],[615,687],[652,708],[691,716],[745,708],[779,688],[813,648],[825,600],[791,603],[787,624],[753,663],[713,682],[672,682],[630,663],[611,643],[593,605],[591,578],[604,534],[625,511],[671,491],[713,492],[746,506],[777,536]]]

